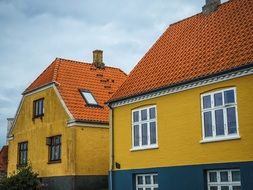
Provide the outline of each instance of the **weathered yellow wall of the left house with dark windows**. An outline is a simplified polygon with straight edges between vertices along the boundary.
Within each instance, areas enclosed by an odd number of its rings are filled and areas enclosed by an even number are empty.
[[[33,101],[43,97],[44,117],[32,120]],[[107,174],[109,161],[103,154],[108,155],[109,130],[67,127],[68,119],[53,88],[26,96],[9,141],[8,173],[16,170],[18,143],[28,141],[28,159],[41,177]],[[48,164],[46,137],[55,135],[62,135],[61,162]]]

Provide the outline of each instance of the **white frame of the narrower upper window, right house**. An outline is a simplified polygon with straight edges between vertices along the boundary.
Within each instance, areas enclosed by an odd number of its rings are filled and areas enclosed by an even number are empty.
[[[142,110],[149,110],[150,108],[155,108],[155,118],[154,119],[149,119],[149,111],[147,111],[147,120],[146,121],[141,121],[141,111]],[[139,112],[139,121],[138,122],[134,122],[134,118],[133,118],[133,113],[138,111]],[[130,151],[135,151],[135,150],[145,150],[145,149],[155,149],[158,148],[158,130],[157,130],[157,107],[156,105],[152,105],[152,106],[145,106],[145,107],[141,107],[138,109],[134,109],[132,110],[132,148],[130,149]],[[150,122],[155,122],[156,123],[156,144],[150,144]],[[142,132],[141,132],[141,125],[147,123],[147,132],[148,132],[148,143],[147,145],[142,145]],[[139,146],[134,146],[134,125],[139,125],[139,134],[140,134],[140,138],[139,138]]]

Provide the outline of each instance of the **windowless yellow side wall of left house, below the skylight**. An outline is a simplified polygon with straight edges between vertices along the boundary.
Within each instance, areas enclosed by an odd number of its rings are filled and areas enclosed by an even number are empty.
[[[76,155],[76,175],[108,175],[109,129],[78,127]]]

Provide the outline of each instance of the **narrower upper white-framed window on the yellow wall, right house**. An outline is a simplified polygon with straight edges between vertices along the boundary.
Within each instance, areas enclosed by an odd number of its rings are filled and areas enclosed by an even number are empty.
[[[132,149],[157,147],[156,106],[132,111]]]

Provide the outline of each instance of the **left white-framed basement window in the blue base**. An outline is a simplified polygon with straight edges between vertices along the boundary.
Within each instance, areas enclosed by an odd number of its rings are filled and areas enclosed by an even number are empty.
[[[136,175],[136,190],[158,190],[157,174]]]

